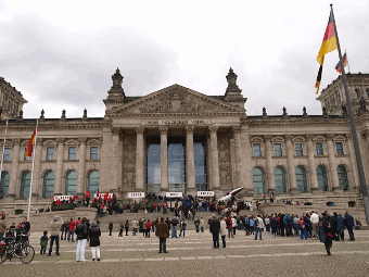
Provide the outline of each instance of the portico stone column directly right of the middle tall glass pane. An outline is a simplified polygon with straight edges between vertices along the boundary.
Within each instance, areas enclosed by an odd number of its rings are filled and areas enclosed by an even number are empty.
[[[186,182],[187,194],[196,197],[194,150],[193,150],[193,126],[186,126]]]

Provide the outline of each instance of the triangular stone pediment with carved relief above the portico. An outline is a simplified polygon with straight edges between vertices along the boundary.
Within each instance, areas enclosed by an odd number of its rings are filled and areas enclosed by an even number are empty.
[[[173,85],[106,111],[107,116],[126,114],[244,114],[245,110],[189,88]]]

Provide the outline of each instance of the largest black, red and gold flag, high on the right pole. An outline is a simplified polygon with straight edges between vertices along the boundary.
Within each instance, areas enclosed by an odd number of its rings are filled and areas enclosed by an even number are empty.
[[[320,50],[317,56],[317,61],[320,64],[317,81],[315,83],[315,87],[317,88],[316,95],[319,92],[319,86],[321,80],[321,73],[322,73],[322,65],[325,63],[325,55],[333,50],[338,49],[336,38],[335,38],[335,30],[334,30],[334,22],[333,22],[333,14],[331,12],[328,21],[328,25],[326,28],[325,37],[320,46]]]

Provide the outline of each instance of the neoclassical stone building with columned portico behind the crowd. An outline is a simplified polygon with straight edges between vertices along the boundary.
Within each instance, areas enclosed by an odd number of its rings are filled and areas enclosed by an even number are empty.
[[[82,197],[98,188],[126,199],[127,192],[133,191],[194,196],[198,190],[212,190],[221,196],[245,187],[242,196],[249,199],[275,192],[302,202],[360,202],[348,118],[332,108],[334,102],[345,110],[342,96],[331,97],[342,91],[341,78],[318,98],[323,115],[308,115],[306,109],[302,115],[289,115],[281,109],[281,115],[273,116],[265,109],[260,116],[246,115],[246,98],[231,68],[222,96],[173,85],[144,97],[130,97],[122,88],[118,70],[112,79],[102,118],[88,117],[86,110],[80,118],[67,118],[65,111],[61,118],[47,118],[41,112],[34,150],[34,201],[46,201],[50,196]],[[369,91],[367,74],[351,74],[351,80],[359,81],[361,93]],[[351,86],[355,99],[357,86]],[[9,102],[13,91],[2,79],[0,203],[22,202],[29,193],[33,164],[24,159],[24,151],[36,118],[23,118],[26,100],[20,92],[12,98],[17,99],[16,105]],[[366,101],[368,96],[362,96]],[[357,111],[369,178],[369,114],[362,101]]]

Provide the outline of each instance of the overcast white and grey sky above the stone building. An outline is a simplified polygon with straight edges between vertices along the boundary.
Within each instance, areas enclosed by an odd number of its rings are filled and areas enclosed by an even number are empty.
[[[0,76],[24,117],[103,116],[119,67],[126,96],[173,84],[224,95],[230,66],[247,115],[321,114],[316,56],[333,2],[352,73],[369,72],[369,1],[2,1]],[[338,77],[326,56],[321,88]],[[347,67],[346,67],[347,68]]]

